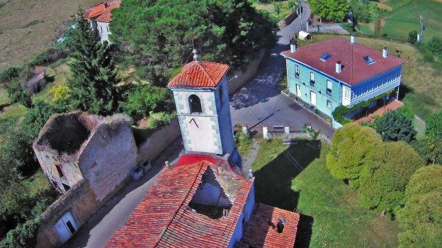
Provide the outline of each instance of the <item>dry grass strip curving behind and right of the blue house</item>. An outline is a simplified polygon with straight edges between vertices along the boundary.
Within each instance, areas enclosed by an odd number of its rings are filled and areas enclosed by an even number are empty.
[[[334,38],[336,35],[313,35],[312,40],[302,42],[307,45],[320,40]],[[348,36],[342,36],[350,39]],[[388,47],[390,55],[399,56],[407,63],[402,69],[401,101],[422,119],[426,119],[442,106],[442,73],[421,60],[421,53],[411,45],[373,38],[358,38],[358,43],[382,50]]]

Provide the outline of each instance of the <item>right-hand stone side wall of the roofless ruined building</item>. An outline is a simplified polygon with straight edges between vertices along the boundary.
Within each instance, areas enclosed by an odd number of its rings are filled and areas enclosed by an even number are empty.
[[[130,123],[115,121],[98,127],[79,154],[78,164],[97,201],[102,201],[137,165]]]

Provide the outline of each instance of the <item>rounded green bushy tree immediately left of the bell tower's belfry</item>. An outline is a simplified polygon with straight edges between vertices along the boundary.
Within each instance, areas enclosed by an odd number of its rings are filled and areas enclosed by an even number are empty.
[[[165,89],[152,84],[135,84],[129,90],[127,101],[121,103],[123,112],[135,120],[149,116],[151,111],[164,111],[168,107]]]

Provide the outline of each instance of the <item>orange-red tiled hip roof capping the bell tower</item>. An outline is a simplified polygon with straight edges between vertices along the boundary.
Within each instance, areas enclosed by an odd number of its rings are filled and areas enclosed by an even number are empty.
[[[186,64],[181,72],[169,84],[174,87],[216,87],[229,65],[207,61],[193,61]]]

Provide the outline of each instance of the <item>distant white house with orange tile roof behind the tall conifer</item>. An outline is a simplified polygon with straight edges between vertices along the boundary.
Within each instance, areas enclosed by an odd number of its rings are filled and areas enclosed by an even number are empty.
[[[121,0],[108,1],[84,11],[84,17],[91,22],[91,28],[97,31],[101,41],[109,41],[108,36],[111,34],[111,30],[109,30],[109,23],[111,23],[112,18],[111,11],[119,8],[120,4]]]

